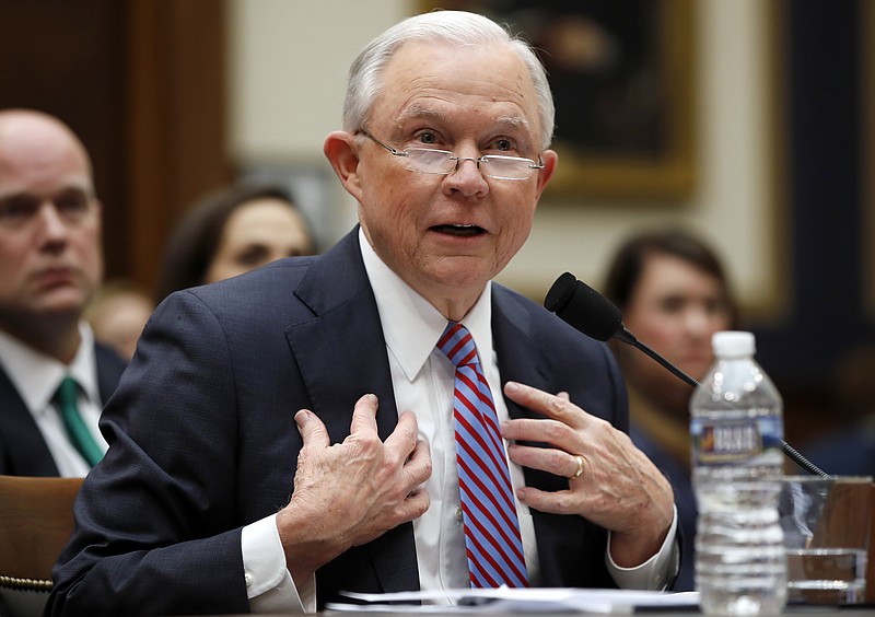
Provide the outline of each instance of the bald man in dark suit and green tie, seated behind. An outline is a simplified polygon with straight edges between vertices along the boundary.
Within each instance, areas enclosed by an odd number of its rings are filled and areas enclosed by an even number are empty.
[[[52,116],[0,110],[0,474],[84,476],[103,456],[125,363],[82,319],[102,278],[84,145]]]

